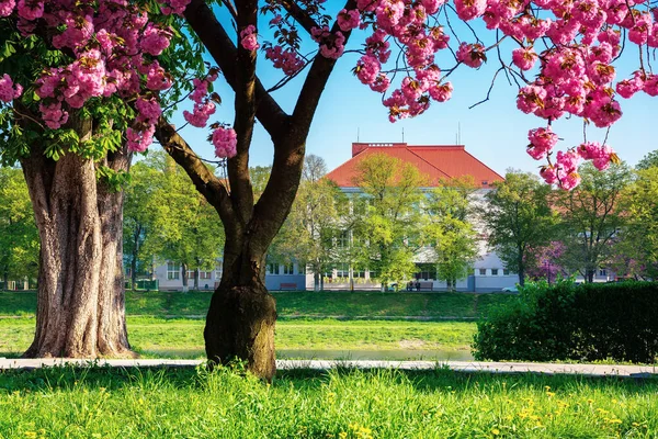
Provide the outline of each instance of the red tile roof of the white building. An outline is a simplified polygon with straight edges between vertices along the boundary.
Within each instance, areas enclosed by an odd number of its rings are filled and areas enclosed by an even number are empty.
[[[373,154],[386,154],[409,162],[430,177],[432,187],[440,180],[472,176],[481,188],[503,178],[466,151],[464,145],[352,144],[352,158],[332,170],[327,178],[340,188],[353,188],[356,164]]]

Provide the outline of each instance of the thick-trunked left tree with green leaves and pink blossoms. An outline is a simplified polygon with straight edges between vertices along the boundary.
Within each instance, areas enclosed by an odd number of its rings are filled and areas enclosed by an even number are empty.
[[[0,158],[21,164],[41,237],[27,357],[133,354],[121,188],[161,103],[185,91],[172,75],[205,70],[189,40],[174,37],[183,19],[148,8],[0,0]]]

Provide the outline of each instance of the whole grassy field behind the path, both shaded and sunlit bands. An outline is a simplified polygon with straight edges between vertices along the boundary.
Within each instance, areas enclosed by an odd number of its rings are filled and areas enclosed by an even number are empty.
[[[274,296],[280,356],[359,358],[358,351],[385,351],[377,358],[396,360],[466,359],[476,325],[458,319],[477,318],[490,306],[513,300],[464,293],[281,292]],[[203,317],[209,300],[208,292],[128,292],[132,346],[144,357],[202,358]],[[29,347],[35,307],[34,292],[0,293],[0,317],[4,317],[0,318],[0,356],[15,357]]]

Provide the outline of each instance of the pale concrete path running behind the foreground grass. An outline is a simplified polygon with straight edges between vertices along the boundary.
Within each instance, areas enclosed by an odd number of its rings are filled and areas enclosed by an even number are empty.
[[[194,368],[202,364],[201,360],[82,360],[82,359],[3,359],[0,358],[0,370],[23,369],[31,370],[54,365],[109,365],[114,368],[134,367],[179,367]],[[658,376],[658,368],[651,365],[622,365],[622,364],[554,364],[554,363],[518,363],[518,362],[479,362],[479,361],[367,361],[367,360],[276,360],[279,369],[316,369],[327,370],[332,368],[359,369],[401,369],[401,370],[432,370],[449,368],[457,372],[489,372],[489,373],[537,373],[537,374],[579,374],[587,376],[627,376],[650,378]]]

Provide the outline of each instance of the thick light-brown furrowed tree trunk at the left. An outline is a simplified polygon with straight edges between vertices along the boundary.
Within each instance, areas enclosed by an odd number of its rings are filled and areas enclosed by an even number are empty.
[[[79,133],[91,133],[80,122]],[[80,136],[81,139],[84,136]],[[127,170],[118,150],[102,165]],[[24,357],[133,357],[123,277],[123,193],[97,180],[90,159],[58,161],[32,147],[21,159],[41,238],[36,333]]]

